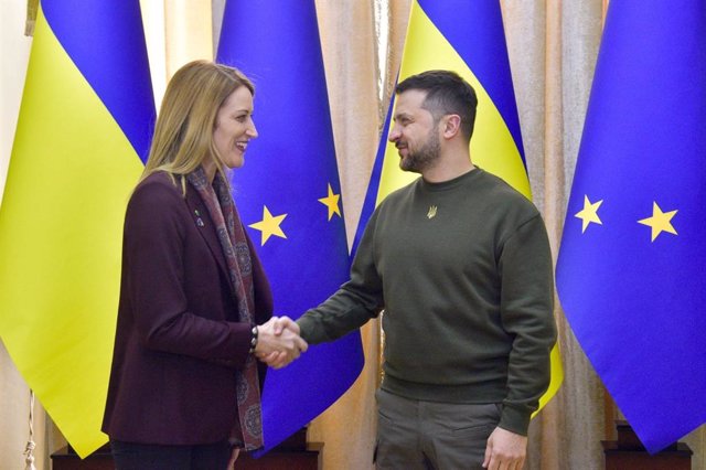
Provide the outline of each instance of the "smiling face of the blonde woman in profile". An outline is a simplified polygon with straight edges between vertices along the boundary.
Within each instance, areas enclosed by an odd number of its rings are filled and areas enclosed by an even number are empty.
[[[233,169],[244,163],[245,149],[257,137],[253,122],[253,94],[245,86],[236,88],[216,115],[213,143],[223,163]]]

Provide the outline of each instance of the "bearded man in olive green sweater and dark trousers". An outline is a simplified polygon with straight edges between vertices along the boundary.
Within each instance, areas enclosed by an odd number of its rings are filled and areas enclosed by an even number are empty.
[[[385,309],[378,469],[521,469],[556,340],[546,229],[471,162],[468,83],[431,71],[396,93],[389,140],[421,178],[379,204],[351,280],[297,323],[317,344]]]

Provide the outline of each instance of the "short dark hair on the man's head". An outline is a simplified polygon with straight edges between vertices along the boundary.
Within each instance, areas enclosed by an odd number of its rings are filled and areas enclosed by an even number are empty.
[[[445,115],[459,115],[461,132],[468,140],[471,139],[478,98],[473,87],[459,74],[451,71],[422,72],[402,81],[395,87],[395,93],[399,95],[408,89],[427,92],[421,106],[431,113],[436,121]]]

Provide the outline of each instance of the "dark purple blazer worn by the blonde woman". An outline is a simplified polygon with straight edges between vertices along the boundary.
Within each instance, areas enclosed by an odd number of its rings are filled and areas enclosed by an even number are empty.
[[[249,239],[248,239],[249,243]],[[271,317],[250,244],[255,321]],[[111,439],[216,442],[237,419],[236,368],[250,348],[208,210],[167,173],[135,190],[125,217],[120,305],[103,430]],[[260,384],[266,367],[259,366]]]

